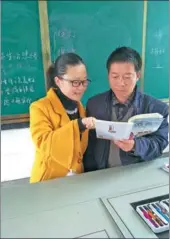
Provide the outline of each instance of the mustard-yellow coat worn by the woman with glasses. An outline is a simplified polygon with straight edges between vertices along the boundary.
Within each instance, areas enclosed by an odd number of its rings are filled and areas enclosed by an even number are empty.
[[[78,103],[80,117],[85,110]],[[83,172],[82,158],[87,148],[88,130],[81,134],[77,120],[70,120],[53,89],[30,106],[30,130],[36,146],[30,182]]]

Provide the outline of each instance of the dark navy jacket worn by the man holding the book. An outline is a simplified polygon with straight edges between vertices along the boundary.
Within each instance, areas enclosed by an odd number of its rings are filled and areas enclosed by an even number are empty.
[[[168,105],[149,95],[141,93],[138,88],[132,103],[134,115],[144,113],[160,113],[164,120],[160,128],[150,135],[135,138],[135,151],[125,152],[120,149],[122,165],[152,160],[159,157],[168,145]],[[87,116],[100,120],[111,120],[112,91],[106,91],[90,98],[87,102]],[[89,131],[88,148],[84,155],[85,172],[108,167],[110,150],[109,140],[96,138],[95,130]]]

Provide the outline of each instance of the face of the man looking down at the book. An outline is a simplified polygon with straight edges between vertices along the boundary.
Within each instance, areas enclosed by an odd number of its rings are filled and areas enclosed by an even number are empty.
[[[140,78],[140,72],[135,71],[133,63],[114,62],[110,66],[108,78],[116,96],[128,97]]]

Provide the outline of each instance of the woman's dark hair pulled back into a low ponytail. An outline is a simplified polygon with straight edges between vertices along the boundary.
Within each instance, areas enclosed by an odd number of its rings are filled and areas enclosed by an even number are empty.
[[[50,65],[47,70],[47,90],[51,87],[56,87],[54,78],[62,77],[67,73],[68,66],[76,66],[84,64],[82,58],[75,53],[65,53],[57,57],[55,62]]]

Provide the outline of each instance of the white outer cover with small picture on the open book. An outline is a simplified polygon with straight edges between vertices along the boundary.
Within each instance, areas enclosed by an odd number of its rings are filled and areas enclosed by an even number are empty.
[[[122,140],[129,139],[133,123],[96,120],[97,138]]]

